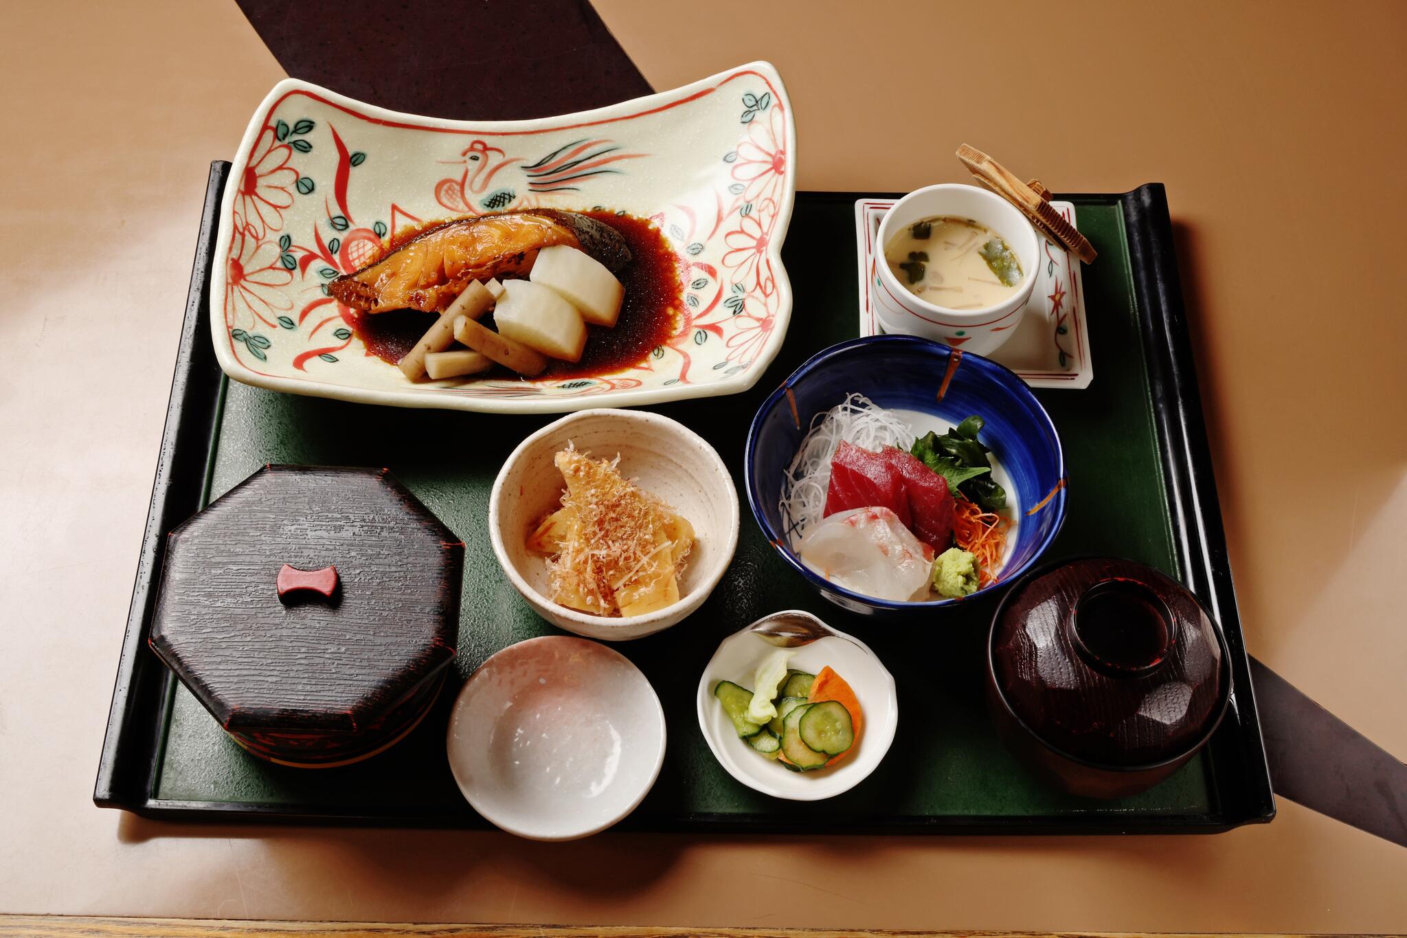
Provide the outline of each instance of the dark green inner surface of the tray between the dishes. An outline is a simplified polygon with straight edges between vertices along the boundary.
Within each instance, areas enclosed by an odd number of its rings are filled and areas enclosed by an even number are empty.
[[[1079,229],[1099,250],[1083,287],[1095,363],[1089,388],[1037,390],[1065,450],[1068,515],[1045,560],[1128,557],[1179,577],[1140,349],[1138,309],[1117,201],[1076,201]],[[820,349],[857,335],[854,203],[798,198],[782,256],[795,307],[787,340],[757,385],[740,395],[654,408],[702,433],[722,454],[743,505],[737,555],[689,619],[615,645],[664,705],[668,752],[658,782],[628,824],[781,825],[816,831],[913,828],[924,823],[1041,817],[1206,816],[1216,811],[1210,757],[1193,758],[1157,788],[1114,802],[1062,795],[1033,778],[996,738],[982,705],[982,643],[993,603],[964,605],[923,626],[872,623],[820,599],[763,537],[741,491],[747,426],[761,401]],[[203,338],[200,338],[204,340]],[[266,463],[387,465],[466,543],[457,674],[432,714],[402,743],[360,765],[294,769],[241,750],[201,705],[172,682],[155,803],[225,803],[335,817],[416,816],[483,823],[464,803],[445,758],[445,728],[460,682],[488,655],[553,634],[502,577],[488,544],[488,491],[508,453],[556,416],[394,409],[294,397],[228,383],[208,467],[212,501]],[[839,797],[798,803],[732,779],[698,727],[694,696],[718,644],[778,609],[808,609],[867,641],[899,686],[899,728],[881,766]],[[1093,818],[1086,818],[1093,820]]]

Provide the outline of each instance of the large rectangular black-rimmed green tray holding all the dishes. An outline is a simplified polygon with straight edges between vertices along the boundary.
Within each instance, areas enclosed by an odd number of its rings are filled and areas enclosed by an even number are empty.
[[[502,457],[552,416],[404,411],[228,383],[210,343],[208,278],[229,165],[211,167],[166,433],[118,667],[94,800],[191,820],[317,820],[436,827],[484,821],[445,759],[453,690],[484,658],[553,631],[502,578],[484,532]],[[801,193],[784,260],[795,290],[785,345],[749,392],[657,408],[706,436],[741,482],[749,418],[816,350],[857,329],[855,193]],[[664,769],[625,830],[739,833],[1211,833],[1275,814],[1248,657],[1161,186],[1062,195],[1099,249],[1083,270],[1095,361],[1089,388],[1041,390],[1069,468],[1068,520],[1047,560],[1123,555],[1159,567],[1218,617],[1234,698],[1210,745],[1157,788],[1116,802],[1061,795],[998,741],[982,709],[991,605],[929,627],[879,626],[825,603],[787,570],[751,518],[737,557],[685,623],[618,648],[656,686],[668,721]],[[446,437],[463,444],[450,447]],[[425,721],[390,751],[295,769],[241,750],[146,647],[165,534],[266,463],[388,465],[466,541],[459,660]],[[746,503],[746,499],[743,499]],[[881,768],[846,795],[778,802],[734,782],[699,735],[698,672],[718,643],[777,609],[810,609],[855,631],[895,674],[900,721]]]

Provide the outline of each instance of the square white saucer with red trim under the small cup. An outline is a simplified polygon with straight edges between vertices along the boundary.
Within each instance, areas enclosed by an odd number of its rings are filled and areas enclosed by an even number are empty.
[[[860,335],[877,336],[884,332],[875,316],[875,243],[879,221],[893,198],[861,198],[855,201],[855,246],[860,257]],[[1052,201],[1071,225],[1075,224],[1072,203]],[[1089,325],[1085,321],[1085,285],[1079,260],[1069,252],[1041,239],[1043,262],[1031,293],[1031,305],[1021,316],[1016,335],[1002,343],[989,359],[1005,364],[1033,388],[1088,388],[1095,380],[1095,363],[1089,356]]]

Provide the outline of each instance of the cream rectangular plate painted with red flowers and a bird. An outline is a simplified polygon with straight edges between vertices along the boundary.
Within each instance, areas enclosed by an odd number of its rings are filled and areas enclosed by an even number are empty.
[[[221,208],[211,329],[229,377],[364,404],[560,412],[746,391],[791,319],[782,239],[796,128],[753,62],[635,101],[532,121],[398,114],[307,82],[255,111]],[[362,346],[326,284],[404,225],[523,208],[626,211],[678,257],[674,333],[644,360],[573,380],[411,383]]]

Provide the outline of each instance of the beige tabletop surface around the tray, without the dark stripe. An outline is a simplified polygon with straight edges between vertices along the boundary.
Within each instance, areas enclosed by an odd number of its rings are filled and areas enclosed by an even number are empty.
[[[1247,643],[1407,754],[1407,4],[598,6],[656,87],[772,60],[802,188],[958,180],[964,141],[1055,190],[1166,183]],[[283,72],[225,0],[0,13],[0,911],[1407,930],[1407,851],[1283,800],[1218,837],[556,847],[93,807],[207,163]]]

